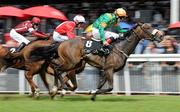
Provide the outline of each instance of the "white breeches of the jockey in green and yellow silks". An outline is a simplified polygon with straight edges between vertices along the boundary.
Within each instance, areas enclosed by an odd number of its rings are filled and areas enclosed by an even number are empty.
[[[114,39],[119,38],[119,35],[117,33],[110,32],[110,31],[104,31],[104,33],[105,33],[105,39],[110,38],[110,37],[113,37]],[[92,35],[94,39],[100,40],[100,33],[97,28],[92,29]]]

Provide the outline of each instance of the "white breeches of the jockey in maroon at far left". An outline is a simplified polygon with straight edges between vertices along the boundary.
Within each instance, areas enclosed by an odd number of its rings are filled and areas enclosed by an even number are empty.
[[[10,31],[10,37],[14,40],[16,40],[18,43],[24,42],[25,44],[28,44],[30,41],[26,39],[23,35],[16,32],[16,30],[12,29]]]

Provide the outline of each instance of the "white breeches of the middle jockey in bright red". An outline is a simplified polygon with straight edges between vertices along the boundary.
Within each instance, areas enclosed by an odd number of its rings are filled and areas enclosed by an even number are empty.
[[[68,39],[69,38],[66,35],[61,35],[56,31],[53,32],[53,40],[54,41],[62,42],[62,41],[68,40]]]

